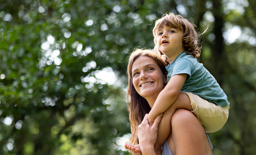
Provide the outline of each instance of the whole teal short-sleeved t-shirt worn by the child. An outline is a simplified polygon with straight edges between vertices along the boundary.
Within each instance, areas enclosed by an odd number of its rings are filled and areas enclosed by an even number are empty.
[[[191,92],[222,107],[230,105],[227,95],[216,79],[192,55],[182,52],[170,65],[166,66],[166,70],[168,71],[167,81],[174,75],[188,74],[181,89],[182,92]]]

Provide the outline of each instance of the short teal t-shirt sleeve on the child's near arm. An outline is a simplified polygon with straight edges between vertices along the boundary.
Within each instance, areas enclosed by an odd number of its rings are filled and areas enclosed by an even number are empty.
[[[172,76],[177,74],[188,74],[187,80],[191,78],[194,65],[188,59],[179,59],[173,66]]]

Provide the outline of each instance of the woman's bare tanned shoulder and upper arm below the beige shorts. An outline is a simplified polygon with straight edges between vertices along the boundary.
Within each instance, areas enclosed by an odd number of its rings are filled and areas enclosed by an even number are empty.
[[[197,117],[184,109],[177,110],[172,117],[172,133],[168,144],[176,155],[212,155],[205,130]]]

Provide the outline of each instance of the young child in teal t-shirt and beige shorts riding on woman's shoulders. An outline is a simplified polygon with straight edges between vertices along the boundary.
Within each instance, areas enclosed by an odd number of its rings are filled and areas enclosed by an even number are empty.
[[[149,112],[149,123],[153,124],[156,116],[163,112],[171,121],[173,113],[183,108],[194,113],[205,132],[220,130],[227,122],[230,103],[216,79],[196,59],[201,47],[198,47],[194,25],[180,15],[169,13],[155,22],[153,34],[155,51],[164,55],[170,65],[166,66],[168,83]],[[176,103],[180,92],[185,92],[187,96],[181,97],[189,100]],[[157,154],[161,154],[161,145],[170,131],[159,126],[155,144]],[[140,152],[139,145],[132,147]]]

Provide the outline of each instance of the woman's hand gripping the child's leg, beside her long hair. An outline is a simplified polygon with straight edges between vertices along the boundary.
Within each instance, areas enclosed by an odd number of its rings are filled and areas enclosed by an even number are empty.
[[[138,138],[142,155],[155,155],[154,144],[157,138],[158,124],[160,123],[162,117],[163,114],[159,114],[155,118],[153,125],[149,125],[148,114],[146,114],[143,121],[138,126]]]

